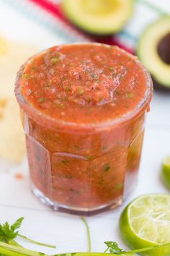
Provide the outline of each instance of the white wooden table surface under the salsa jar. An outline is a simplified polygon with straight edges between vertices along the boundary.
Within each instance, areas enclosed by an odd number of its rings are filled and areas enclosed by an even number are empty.
[[[0,0],[0,33],[14,40],[33,43],[40,49],[65,41],[66,38],[28,19],[26,14],[19,14],[14,6],[9,6],[9,2]],[[118,219],[130,200],[145,193],[169,193],[160,179],[161,162],[166,155],[170,155],[170,94],[156,92],[146,124],[138,186],[122,207],[87,218],[94,252],[104,251],[104,241],[116,241],[125,247],[120,238]],[[16,174],[22,174],[24,178],[16,179]],[[86,251],[86,230],[80,218],[54,213],[30,192],[26,159],[19,165],[0,159],[0,221],[13,222],[21,216],[25,218],[22,234],[56,244],[57,249],[44,249],[32,244],[27,244],[27,247],[49,254]]]

